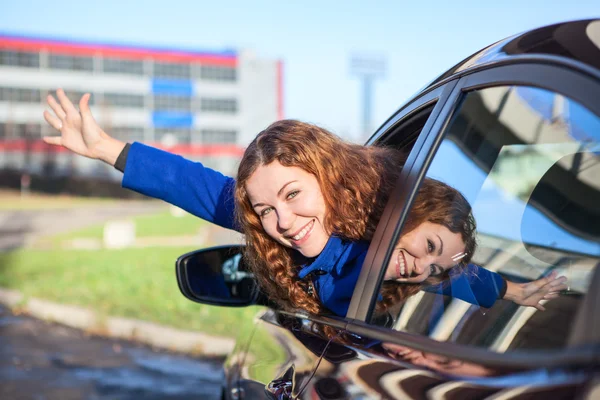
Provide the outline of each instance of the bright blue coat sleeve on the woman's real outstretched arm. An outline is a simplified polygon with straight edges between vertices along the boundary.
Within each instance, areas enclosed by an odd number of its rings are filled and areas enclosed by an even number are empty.
[[[164,200],[208,222],[236,229],[235,179],[199,162],[133,143],[122,186]]]

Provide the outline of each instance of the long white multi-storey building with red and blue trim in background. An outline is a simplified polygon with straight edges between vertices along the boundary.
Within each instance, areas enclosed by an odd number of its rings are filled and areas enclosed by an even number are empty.
[[[45,98],[85,92],[101,126],[233,174],[243,148],[283,114],[282,63],[249,52],[189,51],[0,34],[0,168],[118,178],[50,149]],[[51,155],[49,155],[51,154]]]

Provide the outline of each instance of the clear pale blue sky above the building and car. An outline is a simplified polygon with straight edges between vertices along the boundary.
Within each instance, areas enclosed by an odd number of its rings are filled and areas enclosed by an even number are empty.
[[[600,17],[598,0],[8,1],[0,32],[190,50],[250,50],[284,64],[284,116],[363,142],[353,55],[386,59],[373,129],[454,64],[507,36]]]

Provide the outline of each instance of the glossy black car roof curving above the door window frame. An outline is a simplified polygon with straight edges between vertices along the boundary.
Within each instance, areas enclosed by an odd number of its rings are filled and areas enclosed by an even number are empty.
[[[562,22],[500,40],[459,62],[423,91],[483,66],[532,58],[560,59],[600,77],[600,19]]]

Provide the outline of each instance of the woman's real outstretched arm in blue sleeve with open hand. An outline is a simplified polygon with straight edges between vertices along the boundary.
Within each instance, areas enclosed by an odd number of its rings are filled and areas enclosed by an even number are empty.
[[[45,137],[46,143],[113,166],[121,156],[119,164],[126,159],[123,187],[165,200],[225,228],[234,228],[233,178],[140,143],[126,148],[124,142],[109,136],[96,123],[88,104],[89,94],[81,98],[78,111],[62,89],[56,93],[58,102],[51,95],[47,98],[54,114],[44,111],[44,118],[60,136]]]

